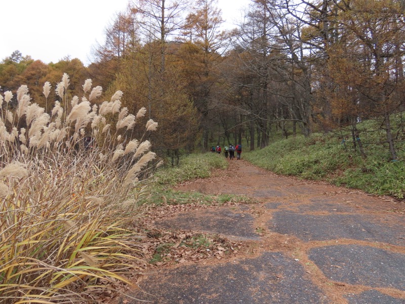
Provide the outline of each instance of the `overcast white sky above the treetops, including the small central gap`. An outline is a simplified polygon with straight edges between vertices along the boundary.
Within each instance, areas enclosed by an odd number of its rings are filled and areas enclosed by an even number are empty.
[[[230,26],[250,0],[219,0]],[[103,42],[104,28],[128,0],[3,0],[0,14],[0,61],[15,50],[45,63],[65,56],[86,65],[91,47]]]

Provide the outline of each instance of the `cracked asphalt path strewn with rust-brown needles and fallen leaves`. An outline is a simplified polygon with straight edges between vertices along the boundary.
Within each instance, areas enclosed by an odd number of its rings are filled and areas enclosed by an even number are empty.
[[[403,202],[229,163],[176,189],[253,200],[147,211],[145,224],[172,248],[138,276],[138,300],[119,303],[405,302]],[[201,234],[213,237],[196,252],[186,241],[201,245]]]

